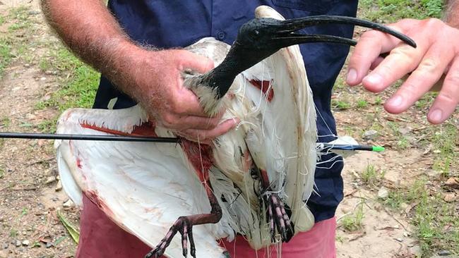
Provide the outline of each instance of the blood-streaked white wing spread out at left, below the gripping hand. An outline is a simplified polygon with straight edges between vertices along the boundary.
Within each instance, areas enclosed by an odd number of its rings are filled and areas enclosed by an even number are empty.
[[[138,107],[71,109],[59,119],[58,133],[107,134],[94,129],[99,127],[131,133],[145,120]],[[160,242],[179,216],[210,211],[201,182],[184,162],[180,145],[58,140],[55,147],[68,195],[81,204],[83,192],[112,221],[150,247]],[[212,227],[193,227],[198,257],[223,257],[210,233],[215,231]],[[179,235],[166,255],[182,257]]]

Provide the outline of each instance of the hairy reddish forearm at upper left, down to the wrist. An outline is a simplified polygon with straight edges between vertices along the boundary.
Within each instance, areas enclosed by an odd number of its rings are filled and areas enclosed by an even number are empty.
[[[121,71],[129,68],[129,58],[135,58],[133,54],[140,48],[121,30],[103,1],[42,0],[41,3],[49,24],[68,47],[121,90],[133,95],[129,87],[131,78],[123,78]]]

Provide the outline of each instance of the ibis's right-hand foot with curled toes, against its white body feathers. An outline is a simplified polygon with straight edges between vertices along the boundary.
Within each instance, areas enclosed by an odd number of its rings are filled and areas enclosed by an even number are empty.
[[[270,226],[271,242],[275,242],[276,231],[280,233],[282,242],[288,242],[294,235],[293,223],[285,211],[287,207],[277,193],[268,193],[263,196],[266,205],[267,219]],[[287,207],[288,209],[288,207]]]

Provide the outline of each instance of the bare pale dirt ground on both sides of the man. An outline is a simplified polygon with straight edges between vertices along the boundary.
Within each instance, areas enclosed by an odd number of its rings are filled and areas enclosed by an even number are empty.
[[[59,88],[59,75],[40,69],[40,59],[49,46],[58,44],[50,34],[38,8],[38,1],[0,0],[0,14],[10,8],[30,6],[29,14],[34,18],[33,35],[30,41],[42,44],[32,45],[28,58],[13,58],[0,79],[0,123],[2,131],[38,131],[46,119],[52,119],[58,111],[36,109],[38,102],[49,97]],[[8,21],[1,25],[0,33],[7,33]],[[30,47],[30,45],[29,45]],[[29,49],[30,50],[30,49]],[[374,102],[374,97],[362,90],[341,90]],[[340,93],[334,97],[340,97]],[[362,140],[359,128],[362,117],[371,110],[335,111],[340,134],[351,133]],[[429,126],[425,113],[410,111],[401,117],[400,128],[419,128],[413,125],[422,121]],[[395,116],[381,115],[385,121],[397,121]],[[451,119],[458,125],[458,116]],[[364,122],[362,122],[364,123]],[[411,133],[408,133],[411,135]],[[409,138],[410,139],[410,138]],[[371,141],[371,140],[370,140]],[[413,140],[415,141],[415,140]],[[362,226],[349,232],[343,226],[337,231],[338,257],[414,257],[419,254],[419,243],[413,236],[413,229],[403,212],[388,209],[378,199],[381,185],[398,188],[415,178],[431,172],[433,156],[428,147],[397,148],[397,136],[381,134],[374,142],[388,147],[382,154],[359,153],[346,159],[343,178],[345,200],[338,207],[338,223],[346,216],[361,209],[364,214]],[[1,140],[0,141],[0,258],[1,257],[73,257],[76,244],[59,221],[56,211],[60,209],[71,223],[78,225],[78,208],[64,205],[68,197],[59,187],[52,142],[44,140]],[[456,150],[457,151],[457,150]],[[377,187],[362,183],[362,171],[369,164],[385,171]],[[458,176],[458,171],[451,171]],[[432,180],[432,182],[435,182]],[[453,191],[458,207],[459,192]],[[65,206],[65,207],[64,207]],[[410,207],[405,207],[408,210]],[[407,211],[408,212],[408,211]]]

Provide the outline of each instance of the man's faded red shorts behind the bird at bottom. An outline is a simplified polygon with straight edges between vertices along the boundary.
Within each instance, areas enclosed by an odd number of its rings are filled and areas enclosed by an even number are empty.
[[[142,258],[151,250],[141,240],[119,228],[84,195],[80,225],[76,258]],[[282,244],[282,258],[335,258],[335,228],[335,218],[316,223],[310,231],[299,233],[290,242]],[[222,241],[222,245],[232,258],[277,257],[274,247],[270,248],[271,256],[264,249],[259,250],[256,256],[255,250],[242,237],[234,242]]]

